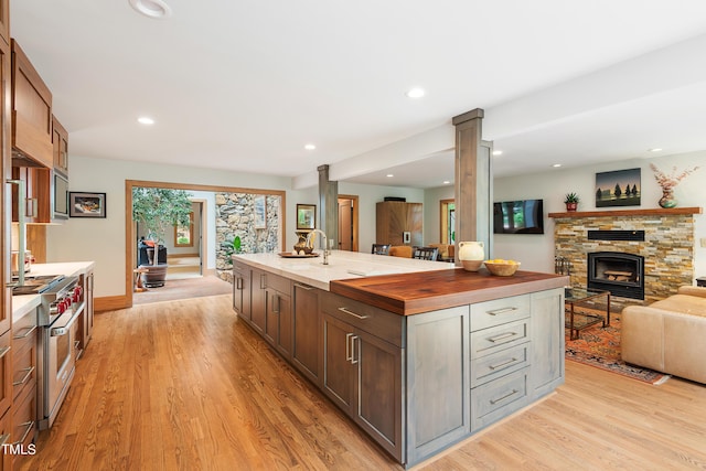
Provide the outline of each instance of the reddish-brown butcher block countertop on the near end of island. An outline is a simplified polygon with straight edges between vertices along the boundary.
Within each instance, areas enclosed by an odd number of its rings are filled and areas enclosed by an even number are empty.
[[[498,277],[484,268],[479,271],[457,268],[335,280],[331,281],[330,291],[409,315],[561,288],[568,281],[569,278],[565,276],[536,271],[516,271],[511,277]]]

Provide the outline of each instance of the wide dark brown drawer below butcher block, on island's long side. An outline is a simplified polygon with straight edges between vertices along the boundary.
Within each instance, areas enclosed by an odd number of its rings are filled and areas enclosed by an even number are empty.
[[[322,298],[321,309],[325,313],[394,345],[404,346],[402,335],[404,315],[330,292]]]

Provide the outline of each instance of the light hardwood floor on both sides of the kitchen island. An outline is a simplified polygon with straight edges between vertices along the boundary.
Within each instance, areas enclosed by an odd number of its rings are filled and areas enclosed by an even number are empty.
[[[426,470],[706,469],[706,387],[567,362],[541,404]],[[272,353],[229,296],[96,315],[24,470],[400,469]]]

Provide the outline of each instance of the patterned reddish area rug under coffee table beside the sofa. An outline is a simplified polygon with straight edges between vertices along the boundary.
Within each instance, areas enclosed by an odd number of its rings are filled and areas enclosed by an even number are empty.
[[[566,358],[597,368],[618,373],[651,384],[662,384],[670,375],[640,366],[629,365],[620,358],[620,314],[610,314],[610,325],[600,323],[579,332],[577,340],[569,340],[566,331]]]

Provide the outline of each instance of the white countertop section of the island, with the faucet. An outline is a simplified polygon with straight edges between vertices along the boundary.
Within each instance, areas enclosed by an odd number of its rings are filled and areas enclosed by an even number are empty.
[[[332,280],[456,268],[453,264],[443,261],[345,250],[332,250],[329,255],[329,265],[323,265],[323,255],[310,258],[285,258],[278,254],[240,254],[234,255],[233,259],[327,291]]]

